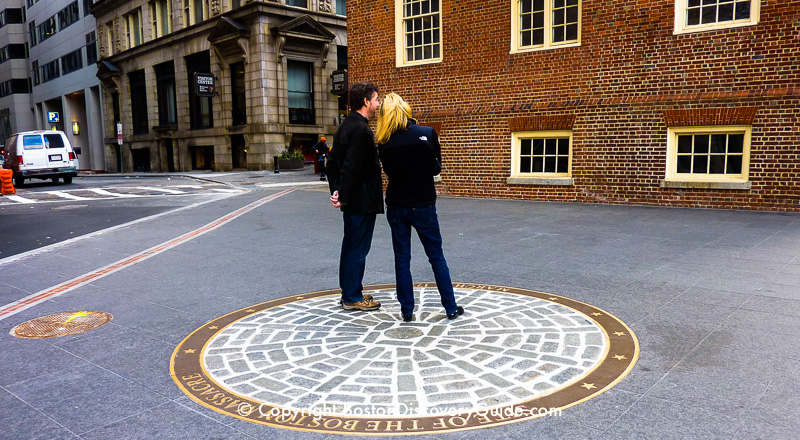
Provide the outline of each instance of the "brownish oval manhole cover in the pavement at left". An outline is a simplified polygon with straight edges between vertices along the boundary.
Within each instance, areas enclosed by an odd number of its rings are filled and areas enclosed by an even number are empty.
[[[42,316],[14,327],[11,334],[18,338],[44,339],[74,335],[95,329],[111,321],[106,312],[64,312]]]

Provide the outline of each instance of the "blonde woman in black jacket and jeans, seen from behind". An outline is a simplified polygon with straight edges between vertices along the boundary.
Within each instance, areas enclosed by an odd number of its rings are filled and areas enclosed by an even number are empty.
[[[378,109],[376,141],[383,171],[389,177],[386,219],[392,229],[397,300],[403,321],[414,320],[411,228],[417,231],[428,255],[447,317],[463,315],[464,309],[456,304],[436,216],[433,176],[441,171],[439,136],[433,128],[417,125],[411,119],[411,106],[390,93]]]

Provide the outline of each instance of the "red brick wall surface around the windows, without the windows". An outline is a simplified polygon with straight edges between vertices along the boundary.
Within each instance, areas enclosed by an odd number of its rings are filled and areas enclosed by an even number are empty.
[[[439,124],[447,194],[800,211],[800,0],[762,0],[756,26],[682,35],[674,4],[584,0],[580,47],[510,55],[509,2],[442,0],[443,62],[396,68],[394,2],[351,0],[351,81]],[[757,108],[750,190],[661,188],[665,111],[744,107]],[[575,184],[507,184],[509,120],[564,115]]]

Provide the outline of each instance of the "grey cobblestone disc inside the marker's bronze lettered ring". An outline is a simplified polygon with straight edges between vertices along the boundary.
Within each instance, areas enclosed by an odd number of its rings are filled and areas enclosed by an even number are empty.
[[[416,321],[393,289],[376,312],[338,297],[262,310],[220,331],[201,362],[228,391],[281,408],[346,414],[403,405],[419,415],[513,405],[579,381],[606,356],[586,315],[546,299],[457,288],[466,313],[448,320],[434,287],[415,289]]]

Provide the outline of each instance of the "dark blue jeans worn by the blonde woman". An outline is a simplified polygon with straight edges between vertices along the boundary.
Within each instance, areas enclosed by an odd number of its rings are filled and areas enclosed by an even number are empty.
[[[386,208],[386,219],[392,229],[394,248],[394,272],[397,279],[397,300],[403,316],[414,313],[414,286],[411,281],[411,228],[417,231],[425,254],[433,269],[436,287],[442,297],[442,306],[448,314],[456,312],[456,298],[450,269],[442,251],[442,234],[439,231],[439,218],[436,205],[417,208]]]

